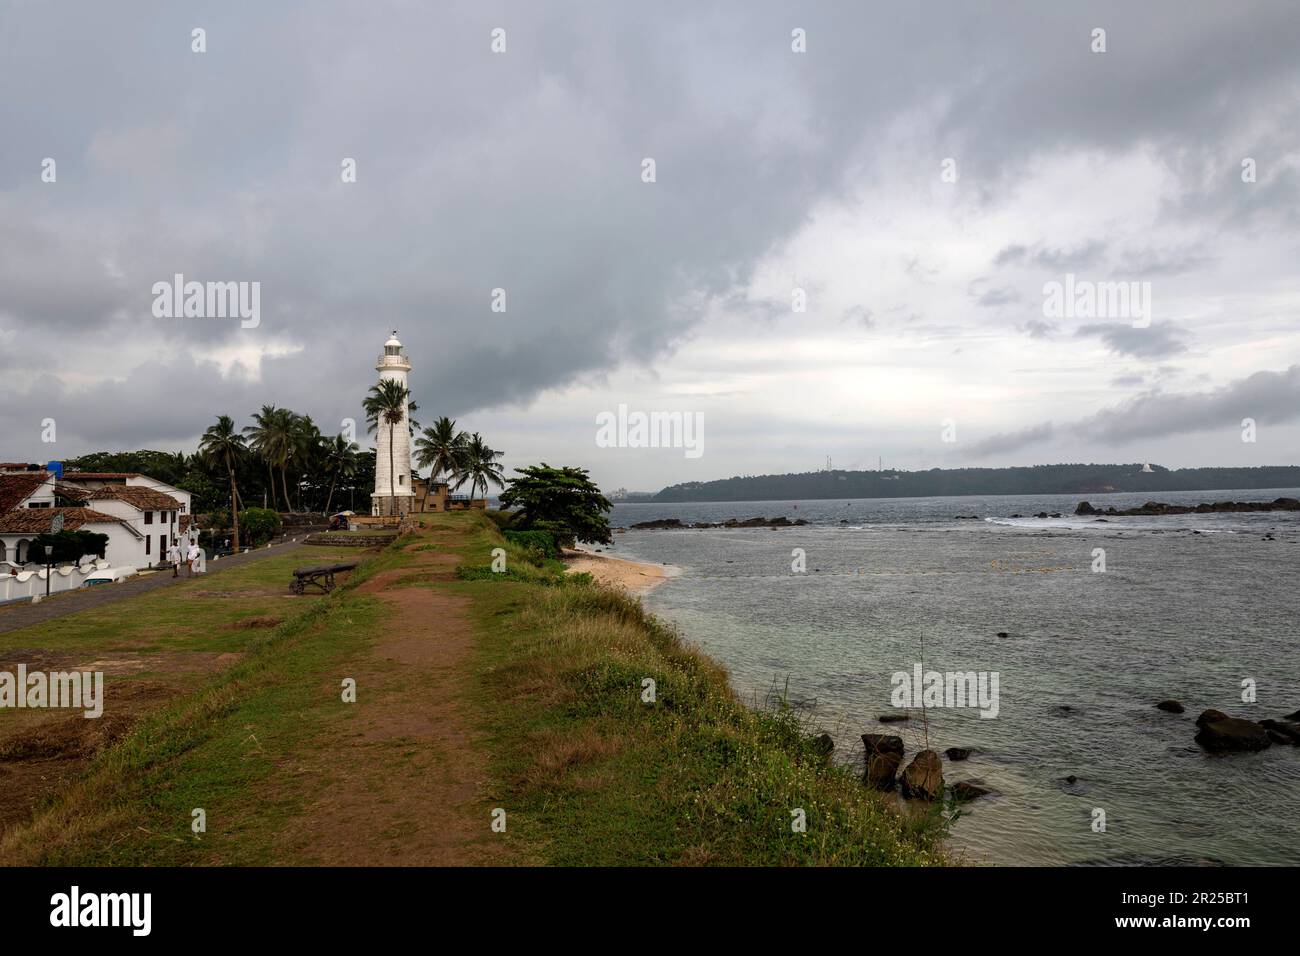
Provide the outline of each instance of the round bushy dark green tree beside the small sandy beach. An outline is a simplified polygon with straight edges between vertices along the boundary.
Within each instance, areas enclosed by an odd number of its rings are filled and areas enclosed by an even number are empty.
[[[520,477],[508,479],[500,494],[502,507],[517,507],[512,527],[524,531],[550,531],[559,538],[610,544],[610,523],[604,512],[614,506],[588,477],[585,468],[552,468],[542,462],[515,468]]]

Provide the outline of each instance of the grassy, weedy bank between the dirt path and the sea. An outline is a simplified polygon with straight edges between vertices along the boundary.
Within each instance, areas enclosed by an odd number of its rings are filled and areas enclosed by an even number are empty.
[[[488,522],[467,563],[495,546],[517,574],[552,571],[520,570]],[[558,865],[942,862],[941,808],[901,814],[828,762],[794,710],[746,708],[638,601],[538,583],[452,585],[473,598],[494,799],[521,852]],[[800,810],[806,832],[792,829]]]

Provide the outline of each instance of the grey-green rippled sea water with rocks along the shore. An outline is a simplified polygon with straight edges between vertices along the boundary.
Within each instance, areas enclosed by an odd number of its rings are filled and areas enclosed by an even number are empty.
[[[1300,490],[1088,499],[1153,497]],[[1300,747],[1216,756],[1192,740],[1206,708],[1252,719],[1300,709],[1300,512],[1098,523],[1072,515],[1079,499],[618,503],[615,527],[759,515],[809,525],[628,531],[610,550],[680,568],[647,607],[724,665],[746,700],[776,688],[810,710],[838,760],[861,770],[863,732],[902,736],[905,762],[927,739],[972,748],[944,761],[948,783],[993,791],[953,826],[970,864],[1300,864]],[[1041,511],[1061,518],[1032,518]],[[997,674],[996,717],[940,706],[879,723],[900,713],[893,675],[918,663]],[[1165,698],[1186,713],[1157,710]]]

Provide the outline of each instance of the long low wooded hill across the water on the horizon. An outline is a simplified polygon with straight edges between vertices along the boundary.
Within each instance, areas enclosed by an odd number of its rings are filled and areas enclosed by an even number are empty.
[[[653,501],[789,501],[928,498],[946,494],[1105,494],[1300,488],[1300,466],[1176,468],[1143,464],[1035,464],[1028,468],[812,471],[751,475],[670,485]]]

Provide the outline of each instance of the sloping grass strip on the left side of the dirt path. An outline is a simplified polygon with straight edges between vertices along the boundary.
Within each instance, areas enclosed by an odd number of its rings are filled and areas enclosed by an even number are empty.
[[[247,640],[242,661],[147,717],[29,825],[6,832],[0,864],[281,862],[277,836],[311,797],[286,769],[351,717],[334,675],[380,627],[378,602],[351,592],[400,562],[396,553],[368,561],[343,588]],[[251,579],[274,578],[272,571]],[[243,601],[228,604],[247,610]],[[191,830],[196,808],[207,814],[207,832]]]

